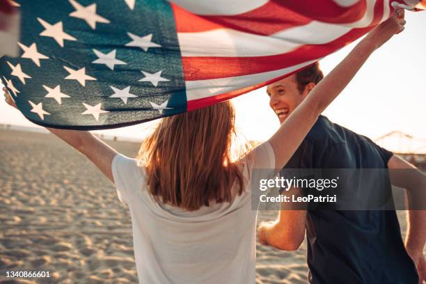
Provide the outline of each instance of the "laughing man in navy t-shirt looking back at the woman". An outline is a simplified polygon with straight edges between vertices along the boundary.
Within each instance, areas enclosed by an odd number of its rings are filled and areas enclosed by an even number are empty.
[[[323,78],[318,63],[267,87],[270,107],[283,123]],[[414,168],[370,139],[320,116],[285,168]],[[426,176],[400,187],[426,189]],[[414,184],[414,186],[413,186]],[[416,188],[417,189],[417,188]],[[411,191],[410,191],[411,192]],[[308,239],[310,283],[423,283],[426,211],[409,211],[404,243],[395,210],[281,210],[262,223],[259,241],[294,251]],[[414,263],[413,263],[414,262]],[[419,281],[420,278],[420,281]]]

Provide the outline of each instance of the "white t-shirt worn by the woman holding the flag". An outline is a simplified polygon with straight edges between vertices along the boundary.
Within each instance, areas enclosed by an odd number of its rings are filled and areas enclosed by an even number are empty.
[[[269,142],[251,150],[244,164],[242,195],[231,203],[188,212],[157,203],[148,193],[144,168],[135,159],[114,157],[118,198],[127,203],[132,217],[139,283],[255,283],[257,210],[251,207],[248,173],[252,168],[275,167]],[[274,175],[267,172],[265,178]]]

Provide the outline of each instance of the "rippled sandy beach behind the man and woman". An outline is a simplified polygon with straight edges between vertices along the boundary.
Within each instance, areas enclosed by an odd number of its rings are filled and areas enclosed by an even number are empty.
[[[107,143],[130,157],[139,149]],[[52,134],[11,130],[0,130],[0,157],[0,283],[137,283],[129,212],[88,159]],[[258,283],[307,282],[306,242],[257,251]],[[12,270],[50,278],[6,278]]]

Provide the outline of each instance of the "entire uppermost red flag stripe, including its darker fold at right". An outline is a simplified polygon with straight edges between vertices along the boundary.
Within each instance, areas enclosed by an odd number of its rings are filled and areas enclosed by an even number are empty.
[[[198,5],[197,2],[194,3]],[[228,26],[238,31],[270,35],[283,29],[308,24],[313,19],[334,24],[358,22],[358,25],[353,27],[360,28],[365,26],[365,21],[362,19],[365,17],[368,6],[372,5],[374,1],[371,0],[356,1],[354,5],[347,7],[330,0],[289,0],[269,1],[255,10],[232,16],[204,15],[200,17],[197,13],[190,13],[191,9],[184,10],[176,5],[173,5],[173,11],[178,32],[210,31]],[[266,22],[265,17],[268,17],[270,21]]]

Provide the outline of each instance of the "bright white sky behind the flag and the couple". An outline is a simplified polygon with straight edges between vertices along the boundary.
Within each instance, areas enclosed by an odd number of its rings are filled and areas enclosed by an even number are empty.
[[[406,13],[406,29],[378,49],[340,96],[324,111],[334,123],[371,139],[392,131],[416,137],[417,149],[426,152],[426,11]],[[328,74],[356,42],[320,61]],[[265,141],[279,127],[269,109],[265,88],[232,99],[237,130],[248,140]],[[103,130],[99,133],[143,139],[157,122]],[[0,100],[0,124],[38,127]],[[395,141],[388,148],[397,150]]]

